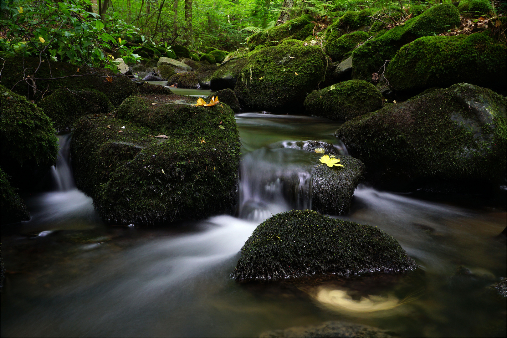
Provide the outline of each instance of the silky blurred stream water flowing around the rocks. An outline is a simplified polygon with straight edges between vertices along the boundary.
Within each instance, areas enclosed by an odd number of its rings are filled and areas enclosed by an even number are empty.
[[[187,90],[189,91],[189,90]],[[207,96],[190,90],[186,95]],[[330,320],[401,336],[505,335],[505,207],[496,198],[380,192],[360,186],[340,218],[395,237],[421,269],[407,276],[293,287],[241,285],[239,250],[271,214],[311,208],[309,141],[329,143],[325,119],[244,113],[238,217],[169,228],[106,226],[75,188],[61,135],[55,191],[27,196],[31,219],[3,233],[2,336],[259,336]]]

